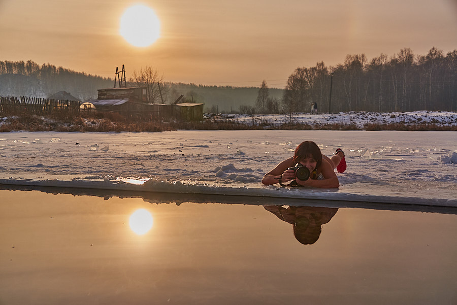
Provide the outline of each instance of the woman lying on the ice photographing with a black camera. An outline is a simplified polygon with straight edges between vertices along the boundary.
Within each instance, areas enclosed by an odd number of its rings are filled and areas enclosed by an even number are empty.
[[[309,172],[301,168],[303,166]],[[279,183],[281,186],[337,188],[340,186],[340,182],[335,174],[335,167],[338,173],[343,173],[346,170],[344,152],[340,148],[336,150],[332,158],[329,158],[322,155],[316,143],[305,141],[297,146],[293,157],[282,161],[267,173],[262,179],[262,183],[267,185]],[[306,173],[303,174],[303,172]],[[300,180],[297,176],[304,180]],[[289,181],[291,181],[290,184],[285,185]]]

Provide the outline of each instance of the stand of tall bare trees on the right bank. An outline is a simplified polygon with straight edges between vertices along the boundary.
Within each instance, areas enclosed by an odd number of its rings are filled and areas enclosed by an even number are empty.
[[[283,111],[309,112],[314,102],[321,112],[457,111],[457,50],[414,55],[404,48],[390,58],[347,55],[337,66],[298,67],[284,88]]]

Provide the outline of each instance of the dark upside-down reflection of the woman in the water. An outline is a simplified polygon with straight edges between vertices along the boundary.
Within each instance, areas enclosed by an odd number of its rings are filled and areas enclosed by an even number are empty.
[[[337,208],[264,206],[279,219],[291,223],[293,235],[304,245],[314,244],[320,236],[321,225],[328,223]]]

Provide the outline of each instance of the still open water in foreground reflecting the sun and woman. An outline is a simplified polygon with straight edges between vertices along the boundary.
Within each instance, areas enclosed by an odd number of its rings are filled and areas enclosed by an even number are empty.
[[[452,209],[0,198],[0,304],[457,303]]]

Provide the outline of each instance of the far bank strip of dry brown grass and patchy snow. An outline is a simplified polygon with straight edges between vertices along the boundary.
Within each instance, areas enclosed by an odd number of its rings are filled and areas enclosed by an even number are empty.
[[[170,130],[395,130],[457,131],[455,112],[349,112],[292,115],[205,114],[201,121],[138,120],[124,117],[42,117],[22,115],[0,118],[0,132],[157,132]]]

